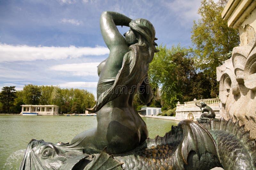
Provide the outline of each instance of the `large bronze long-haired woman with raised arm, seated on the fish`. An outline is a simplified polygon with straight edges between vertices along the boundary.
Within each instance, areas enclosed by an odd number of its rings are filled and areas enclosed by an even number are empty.
[[[117,25],[130,29],[123,36]],[[152,98],[147,79],[148,65],[158,52],[155,29],[146,19],[106,11],[100,17],[100,31],[110,53],[98,66],[97,103],[87,109],[97,112],[98,125],[77,135],[71,144],[79,142],[86,152],[100,152],[107,146],[109,153],[123,153],[148,138],[147,126],[133,108],[133,97],[139,89],[142,102]]]

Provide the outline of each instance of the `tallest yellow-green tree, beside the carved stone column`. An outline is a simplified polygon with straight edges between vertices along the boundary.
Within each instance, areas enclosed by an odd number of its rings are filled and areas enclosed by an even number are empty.
[[[201,18],[194,21],[191,41],[194,48],[195,65],[210,78],[211,97],[219,94],[216,81],[216,67],[228,59],[225,55],[240,43],[238,30],[228,28],[227,21],[221,18],[227,0],[215,3],[213,0],[202,0],[198,9]]]

